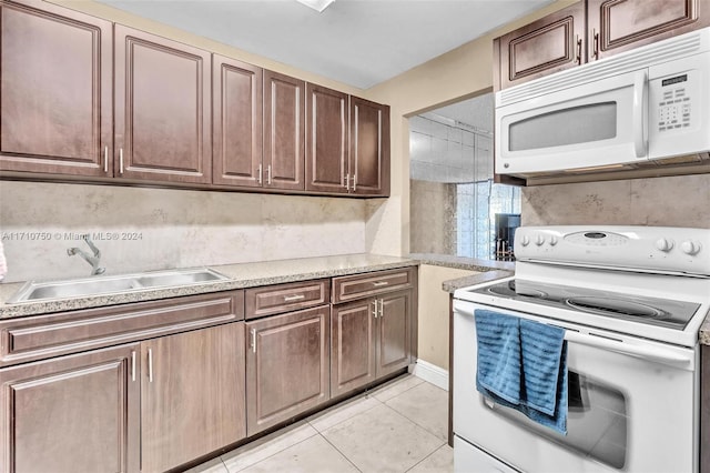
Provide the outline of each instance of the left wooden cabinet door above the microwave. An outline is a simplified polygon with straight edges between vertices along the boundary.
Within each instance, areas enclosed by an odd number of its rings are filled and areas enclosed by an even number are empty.
[[[496,90],[506,89],[586,62],[585,2],[580,1],[494,42]]]

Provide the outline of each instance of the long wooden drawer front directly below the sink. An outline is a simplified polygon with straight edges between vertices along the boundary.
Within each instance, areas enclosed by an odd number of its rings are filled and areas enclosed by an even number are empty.
[[[0,366],[244,319],[244,291],[191,295],[0,322]]]

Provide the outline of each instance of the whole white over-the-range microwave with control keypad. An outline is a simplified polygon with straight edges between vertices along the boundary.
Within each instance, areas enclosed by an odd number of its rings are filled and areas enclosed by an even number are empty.
[[[704,155],[710,28],[498,91],[495,117],[498,174],[587,172]]]

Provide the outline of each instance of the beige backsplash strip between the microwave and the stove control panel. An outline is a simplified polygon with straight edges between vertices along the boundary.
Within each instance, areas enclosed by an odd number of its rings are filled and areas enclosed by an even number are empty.
[[[524,225],[710,228],[710,174],[523,189]]]

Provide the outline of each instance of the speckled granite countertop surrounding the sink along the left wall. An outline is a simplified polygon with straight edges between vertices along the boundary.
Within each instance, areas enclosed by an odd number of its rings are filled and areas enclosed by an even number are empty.
[[[230,291],[234,289],[280,284],[285,282],[307,281],[320,278],[333,278],[369,271],[414,266],[418,264],[419,262],[417,260],[410,258],[385,256],[378,254],[346,254],[339,256],[304,258],[258,263],[210,265],[210,268],[224,274],[229,279],[182,286],[22,302],[17,304],[8,304],[7,301],[20,288],[22,288],[23,283],[2,283],[0,284],[0,319],[179,298],[183,295]]]

